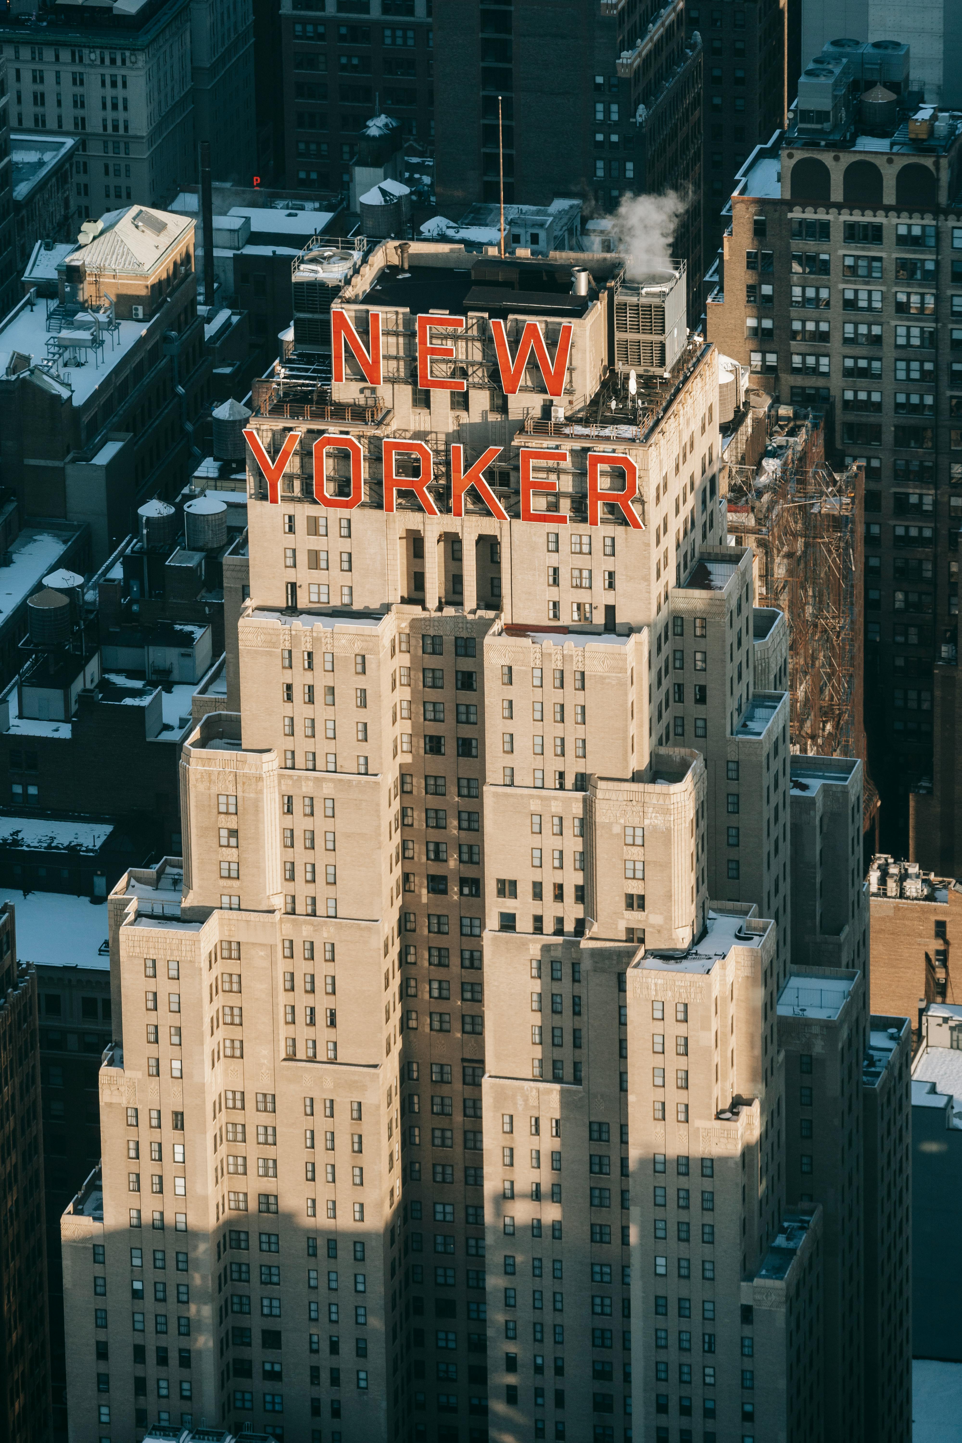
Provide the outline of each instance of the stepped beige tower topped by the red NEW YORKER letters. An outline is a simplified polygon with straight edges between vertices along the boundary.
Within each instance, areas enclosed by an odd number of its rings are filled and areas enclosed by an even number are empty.
[[[681,274],[649,312],[583,260],[387,242],[333,384],[255,390],[239,706],[185,743],[183,856],[108,902],[78,1439],[861,1418],[861,893],[793,968],[785,620],[756,641],[725,544],[717,354],[684,304],[672,339]],[[819,784],[847,857],[858,763]]]

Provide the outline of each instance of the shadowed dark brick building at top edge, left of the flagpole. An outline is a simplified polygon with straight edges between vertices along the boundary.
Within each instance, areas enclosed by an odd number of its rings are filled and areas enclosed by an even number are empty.
[[[286,180],[346,190],[365,123],[434,139],[431,0],[281,0]],[[327,13],[325,13],[327,12]]]

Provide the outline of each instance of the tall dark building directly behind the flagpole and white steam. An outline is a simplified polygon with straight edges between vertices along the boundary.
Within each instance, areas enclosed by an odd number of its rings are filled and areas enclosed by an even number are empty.
[[[607,212],[630,195],[691,196],[675,237],[691,313],[702,271],[702,59],[681,0],[437,0],[434,22],[441,214],[499,199],[500,95],[506,202],[574,196]]]

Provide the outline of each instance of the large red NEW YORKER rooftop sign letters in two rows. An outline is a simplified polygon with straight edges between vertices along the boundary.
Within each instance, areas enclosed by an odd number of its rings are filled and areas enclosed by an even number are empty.
[[[384,362],[382,362],[382,341],[381,341],[381,315],[376,310],[368,312],[368,322],[371,328],[369,345],[365,346],[361,336],[350,323],[350,317],[343,310],[332,310],[330,313],[330,333],[333,343],[333,378],[335,382],[345,381],[345,346],[350,351],[355,361],[358,362],[365,380],[369,385],[384,384]],[[467,390],[467,381],[459,377],[437,377],[431,371],[433,359],[451,361],[456,356],[453,345],[441,343],[440,341],[431,341],[433,330],[449,330],[462,332],[464,329],[464,316],[418,316],[417,317],[417,367],[418,367],[418,387],[425,391],[464,391]],[[548,355],[548,348],[541,332],[541,326],[529,320],[525,323],[521,342],[515,355],[511,354],[511,346],[508,343],[508,336],[505,332],[503,320],[490,320],[492,336],[495,342],[495,355],[498,358],[498,368],[500,372],[500,384],[505,395],[516,395],[521,390],[521,382],[525,375],[525,369],[534,362],[538,365],[544,382],[551,397],[560,397],[564,391],[564,380],[568,369],[568,356],[571,352],[571,333],[573,326],[570,322],[561,325],[561,333],[558,336],[558,343],[555,348],[554,359]],[[248,446],[251,447],[251,455],[257,462],[258,468],[267,479],[267,499],[271,505],[280,504],[280,483],[284,472],[287,470],[294,452],[300,444],[300,431],[290,431],[281,446],[277,460],[271,460],[264,447],[261,446],[260,437],[255,430],[245,430],[244,436]],[[434,475],[434,457],[430,447],[424,442],[415,440],[394,440],[385,437],[382,440],[382,462],[384,462],[384,509],[395,511],[397,495],[401,491],[410,492],[420,502],[421,509],[428,517],[438,517],[441,512],[437,508],[434,498],[428,492],[428,483]],[[327,452],[348,452],[350,460],[350,491],[346,496],[332,496],[327,492],[327,470],[326,459]],[[464,515],[464,495],[473,489],[482,505],[495,517],[498,521],[508,521],[508,512],[502,506],[498,496],[487,485],[485,479],[485,472],[493,462],[502,455],[500,446],[489,446],[483,456],[469,468],[464,468],[464,447],[453,444],[450,456],[450,488],[451,488],[451,509],[450,515],[463,517]],[[398,462],[404,457],[405,465],[410,466],[411,462],[420,465],[420,472],[417,476],[401,475],[398,472]],[[534,496],[537,494],[554,494],[558,492],[558,482],[545,476],[535,476],[532,468],[535,465],[544,463],[567,463],[568,453],[565,450],[541,450],[534,447],[521,447],[518,453],[519,470],[521,470],[521,519],[522,521],[541,521],[548,525],[567,525],[568,517],[564,511],[535,511]],[[643,530],[640,517],[636,515],[632,499],[637,495],[637,465],[630,456],[613,453],[613,452],[588,452],[588,525],[600,525],[601,506],[612,505],[617,506],[625,515],[629,527],[636,530]],[[363,501],[363,450],[361,442],[355,436],[342,434],[326,434],[320,436],[313,444],[313,466],[314,466],[314,499],[320,502],[322,506],[329,506],[335,511],[353,511]],[[601,486],[601,470],[620,472],[625,478],[625,486],[622,491],[609,491]]]

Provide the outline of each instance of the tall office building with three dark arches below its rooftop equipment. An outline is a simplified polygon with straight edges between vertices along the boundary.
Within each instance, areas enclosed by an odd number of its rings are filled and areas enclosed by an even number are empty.
[[[906,110],[909,75],[894,42],[808,66],[787,131],[738,176],[707,306],[756,387],[831,408],[826,449],[864,462],[868,759],[899,850],[932,776],[933,662],[956,649],[962,518],[962,121]]]

